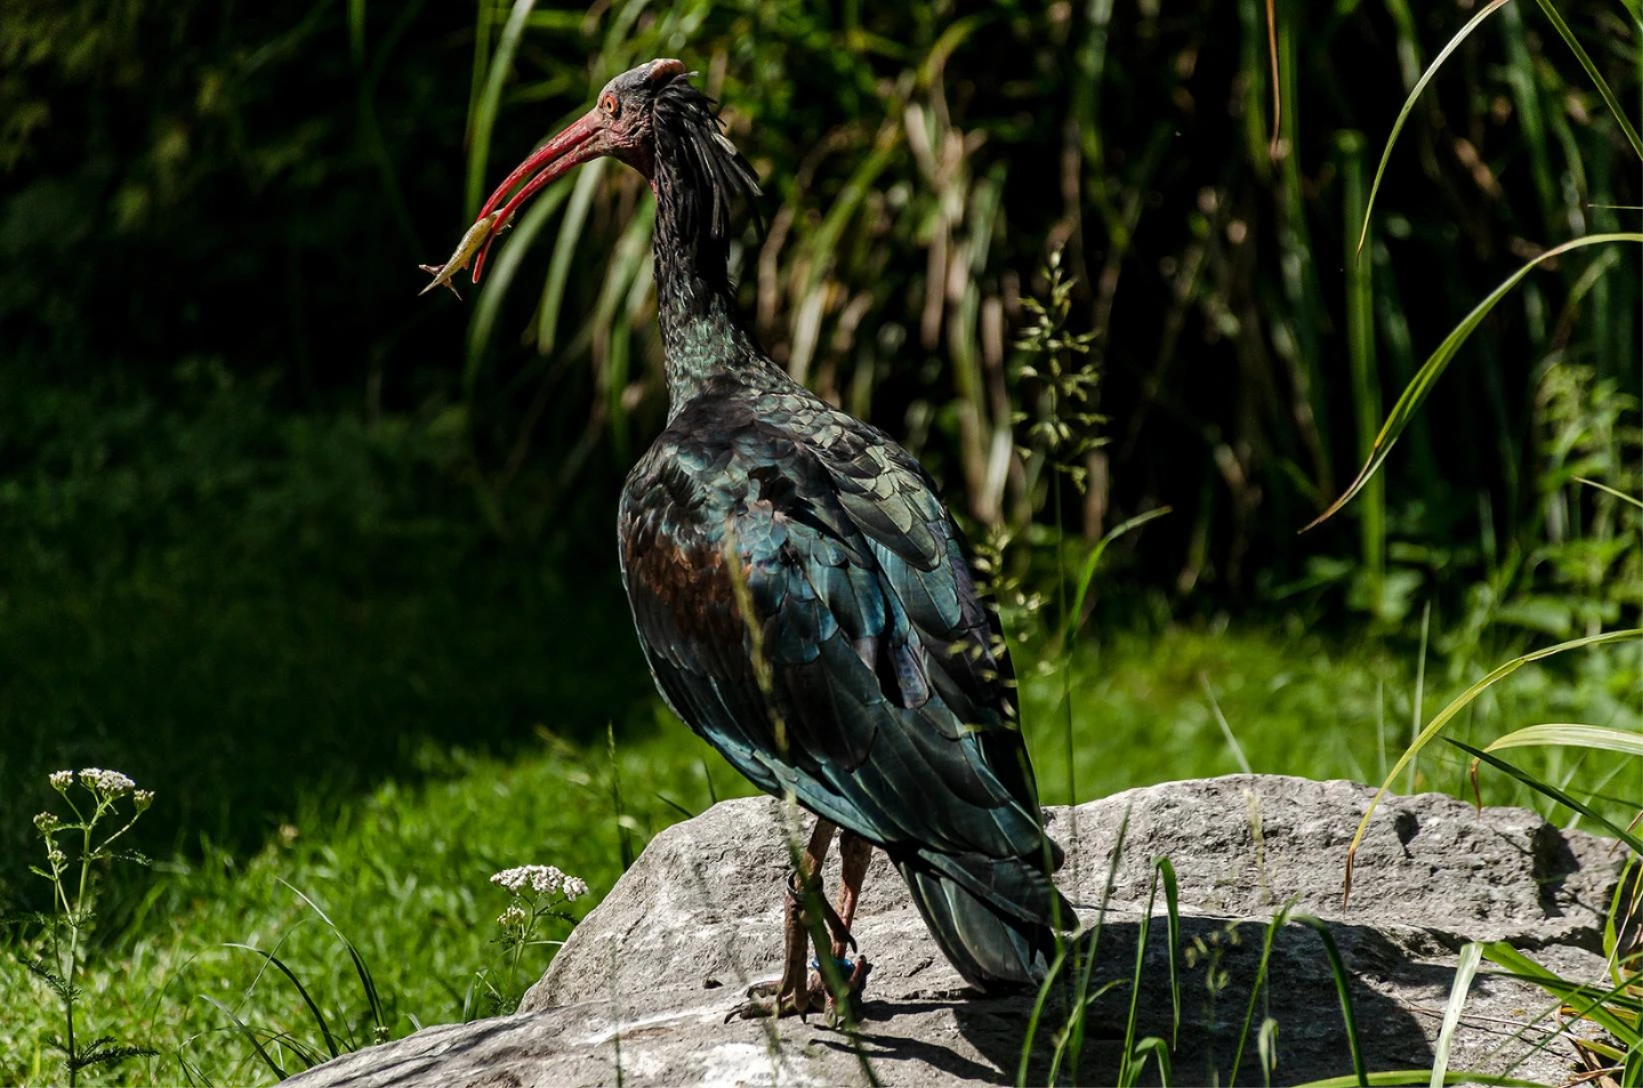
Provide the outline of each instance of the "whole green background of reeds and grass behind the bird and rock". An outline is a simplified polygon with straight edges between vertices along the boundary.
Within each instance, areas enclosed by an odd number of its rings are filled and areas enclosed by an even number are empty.
[[[1385,133],[1475,5],[1273,12],[1277,131],[1262,0],[8,0],[0,902],[38,892],[46,772],[154,789],[166,861],[104,904],[100,950],[135,966],[95,1001],[242,1083],[246,1049],[187,1001],[246,994],[219,942],[289,938],[360,1012],[276,878],[366,950],[401,1034],[475,1011],[491,869],[603,891],[624,840],[744,789],[664,721],[614,569],[614,496],[665,413],[642,182],[582,169],[483,291],[416,297],[480,194],[651,56],[700,72],[766,179],[771,228],[733,253],[764,347],[905,440],[997,554],[1047,799],[1240,758],[1378,779],[1502,659],[1636,625],[1643,514],[1577,483],[1643,491],[1636,247],[1525,279],[1382,477],[1296,536],[1479,299],[1638,228],[1643,166],[1544,12],[1508,3],[1416,102],[1355,258]],[[1559,12],[1635,117],[1635,0]],[[1015,347],[1056,248],[1101,375],[1076,473],[1042,470],[1065,450]],[[1160,506],[1060,615],[1089,542]],[[1457,735],[1635,728],[1640,689],[1635,649],[1559,659]],[[8,1006],[28,991],[0,971]],[[248,1016],[301,1022],[260,986]],[[0,1016],[0,1078],[44,1076],[43,1030]],[[130,1076],[174,1083],[168,1060]]]

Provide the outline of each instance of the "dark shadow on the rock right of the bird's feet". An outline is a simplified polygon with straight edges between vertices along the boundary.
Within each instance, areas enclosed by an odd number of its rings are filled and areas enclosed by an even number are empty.
[[[1429,1068],[1433,1052],[1418,1014],[1400,1007],[1364,978],[1443,993],[1452,981],[1452,971],[1411,961],[1408,950],[1367,927],[1334,925],[1331,932],[1351,973],[1352,1009],[1369,1068]],[[1129,1030],[1137,935],[1135,922],[1117,922],[1102,929],[1099,942],[1094,934],[1081,938],[1061,980],[1045,994],[1037,1027],[1035,993],[992,996],[960,989],[925,999],[869,1001],[859,1030],[861,1052],[882,1073],[899,1063],[912,1063],[941,1070],[964,1083],[1014,1085],[1024,1040],[1032,1032],[1027,1083],[1045,1085],[1053,1070],[1061,1080],[1075,1072],[1079,1080],[1116,1076],[1125,1037],[1139,1042],[1155,1035],[1170,1042],[1175,1035],[1173,1083],[1211,1085],[1216,1083],[1216,1075],[1226,1083],[1240,1037],[1247,1042],[1239,1073],[1260,1076],[1255,1037],[1262,1022],[1270,1017],[1278,1026],[1273,1085],[1296,1085],[1352,1072],[1334,976],[1323,938],[1309,927],[1291,924],[1275,935],[1267,984],[1257,994],[1247,1032],[1244,1021],[1250,1016],[1250,991],[1265,940],[1263,925],[1211,917],[1181,920],[1185,955],[1178,960],[1183,963],[1178,1034],[1171,1030],[1168,934],[1162,919],[1150,927],[1134,1032]],[[1084,986],[1073,965],[1091,948],[1096,952],[1096,965]],[[1081,1044],[1075,1047],[1060,1040],[1066,1034],[1063,1029],[1071,1019],[1070,1011],[1078,1006],[1079,991],[1088,999],[1088,1014]],[[932,1017],[950,1019],[956,1035],[968,1044],[963,1050],[983,1055],[984,1062],[964,1057],[955,1045],[945,1045],[940,1032],[930,1030]],[[907,1030],[897,1030],[899,1026]],[[845,1035],[817,1042],[845,1053],[854,1050]]]

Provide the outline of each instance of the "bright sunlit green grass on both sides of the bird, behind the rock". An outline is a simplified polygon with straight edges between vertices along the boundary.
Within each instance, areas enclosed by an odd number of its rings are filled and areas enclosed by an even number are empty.
[[[1076,656],[1075,671],[1073,771],[1081,799],[1236,771],[1206,679],[1255,771],[1372,779],[1408,738],[1413,661],[1375,643],[1341,644],[1282,626],[1170,628],[1104,638]],[[1589,654],[1561,672],[1525,669],[1493,689],[1492,700],[1480,700],[1470,735],[1493,736],[1513,723],[1582,710],[1592,717],[1612,694],[1635,694],[1636,677],[1636,656],[1623,648]],[[1428,715],[1451,694],[1436,687],[1429,679]],[[1068,766],[1055,725],[1060,677],[1037,675],[1025,692],[1040,781],[1047,799],[1061,802]],[[1383,745],[1377,741],[1382,698]],[[660,708],[657,718],[618,736],[621,812],[603,743],[577,745],[539,730],[514,756],[493,758],[429,741],[404,774],[363,794],[304,795],[251,855],[207,846],[153,871],[122,871],[117,891],[127,904],[115,917],[127,920],[123,932],[100,934],[85,980],[87,1024],[161,1053],[127,1065],[115,1083],[177,1083],[179,1055],[214,1083],[269,1083],[269,1070],[207,998],[251,1027],[291,1030],[302,1045],[322,1049],[296,988],[273,970],[258,978],[261,958],[230,943],[274,952],[289,965],[343,1045],[373,1040],[370,1006],[343,945],[299,891],[370,965],[389,1035],[485,1014],[475,973],[499,966],[495,917],[508,902],[488,884],[491,873],[557,864],[583,876],[596,899],[621,873],[624,838],[637,848],[713,797],[748,792]],[[1608,723],[1636,725],[1612,715]],[[1569,766],[1559,769],[1559,758],[1569,756],[1553,751],[1536,764],[1548,781],[1564,779]],[[1623,777],[1635,781],[1636,772]],[[1423,789],[1454,791],[1464,781],[1459,756],[1423,756]],[[1502,782],[1485,786],[1492,800],[1531,797],[1510,794]],[[28,804],[44,807],[44,772],[26,791]],[[1617,782],[1608,791],[1625,792]],[[173,799],[161,792],[154,810],[168,804]],[[564,929],[549,935],[562,937]],[[547,960],[547,950],[532,950],[518,980],[493,980],[518,998]],[[54,1055],[44,1049],[49,1016],[44,993],[15,960],[0,960],[0,1080],[26,1088],[53,1083]],[[289,1062],[288,1072],[301,1068],[291,1052],[269,1053]]]

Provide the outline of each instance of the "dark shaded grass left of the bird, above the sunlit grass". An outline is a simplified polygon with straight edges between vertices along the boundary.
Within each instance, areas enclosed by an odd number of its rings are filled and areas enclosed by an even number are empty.
[[[427,743],[649,713],[614,482],[544,541],[480,518],[450,413],[291,414],[209,367],[176,386],[0,373],[0,904],[58,768],[164,794],[151,853],[245,851],[304,794],[439,771]]]

